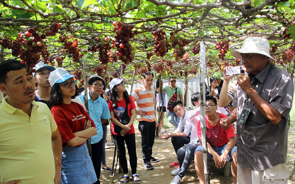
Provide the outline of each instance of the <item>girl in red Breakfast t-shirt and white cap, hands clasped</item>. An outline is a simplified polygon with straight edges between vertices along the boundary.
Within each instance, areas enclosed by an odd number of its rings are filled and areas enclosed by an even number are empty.
[[[118,79],[114,78],[109,83],[109,88],[112,92],[112,97],[108,101],[110,113],[111,113],[111,120],[112,120],[112,135],[117,147],[118,156],[120,160],[120,164],[122,170],[124,172],[124,176],[119,183],[126,183],[127,180],[130,179],[128,174],[128,167],[127,167],[127,159],[126,159],[126,150],[125,144],[128,149],[128,154],[130,158],[130,166],[132,172],[132,178],[134,183],[141,183],[139,179],[139,175],[136,174],[137,170],[137,156],[136,156],[136,145],[135,145],[135,130],[133,127],[133,121],[135,120],[135,104],[132,100],[131,96],[128,95],[125,89],[125,81],[126,79]],[[126,103],[128,104],[128,108],[126,109]],[[125,122],[126,125],[122,124],[124,120],[126,120],[125,111],[127,111],[128,116],[130,118],[129,122]],[[119,118],[121,122],[119,121]],[[128,117],[127,117],[128,119]]]

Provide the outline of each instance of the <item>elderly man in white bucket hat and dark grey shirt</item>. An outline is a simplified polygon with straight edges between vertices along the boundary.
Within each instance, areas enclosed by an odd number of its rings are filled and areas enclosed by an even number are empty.
[[[227,129],[237,121],[237,183],[287,183],[288,117],[294,84],[284,70],[269,60],[265,38],[245,39],[231,54],[242,59],[245,73],[237,78],[233,113],[220,122]]]

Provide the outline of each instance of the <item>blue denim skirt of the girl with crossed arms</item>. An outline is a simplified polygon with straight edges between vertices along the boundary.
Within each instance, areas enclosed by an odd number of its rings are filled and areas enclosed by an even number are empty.
[[[86,142],[80,147],[63,147],[61,184],[92,184],[97,181]]]

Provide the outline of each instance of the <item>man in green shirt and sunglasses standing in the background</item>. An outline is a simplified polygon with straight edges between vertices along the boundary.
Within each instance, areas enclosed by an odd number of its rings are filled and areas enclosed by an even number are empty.
[[[163,86],[163,81],[161,80],[160,88]],[[160,88],[158,89],[158,93],[160,93]],[[183,104],[183,96],[182,90],[180,87],[176,86],[175,77],[169,78],[169,85],[162,88],[162,93],[167,93],[167,99],[169,100],[174,93],[177,93],[177,100],[180,100]],[[168,111],[168,121],[175,127],[174,130],[178,127],[180,117],[178,117],[173,111]]]

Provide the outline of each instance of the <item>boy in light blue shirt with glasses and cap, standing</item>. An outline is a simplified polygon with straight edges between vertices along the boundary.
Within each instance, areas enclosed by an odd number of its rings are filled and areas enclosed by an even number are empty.
[[[88,81],[88,107],[89,116],[94,121],[96,126],[97,134],[91,137],[91,152],[92,152],[92,162],[94,170],[97,177],[97,182],[100,183],[100,170],[101,170],[101,158],[102,158],[102,148],[105,143],[103,139],[103,127],[107,119],[111,118],[109,112],[109,106],[107,102],[100,96],[103,89],[103,80],[96,74],[91,75]],[[84,103],[84,94],[78,96]]]

